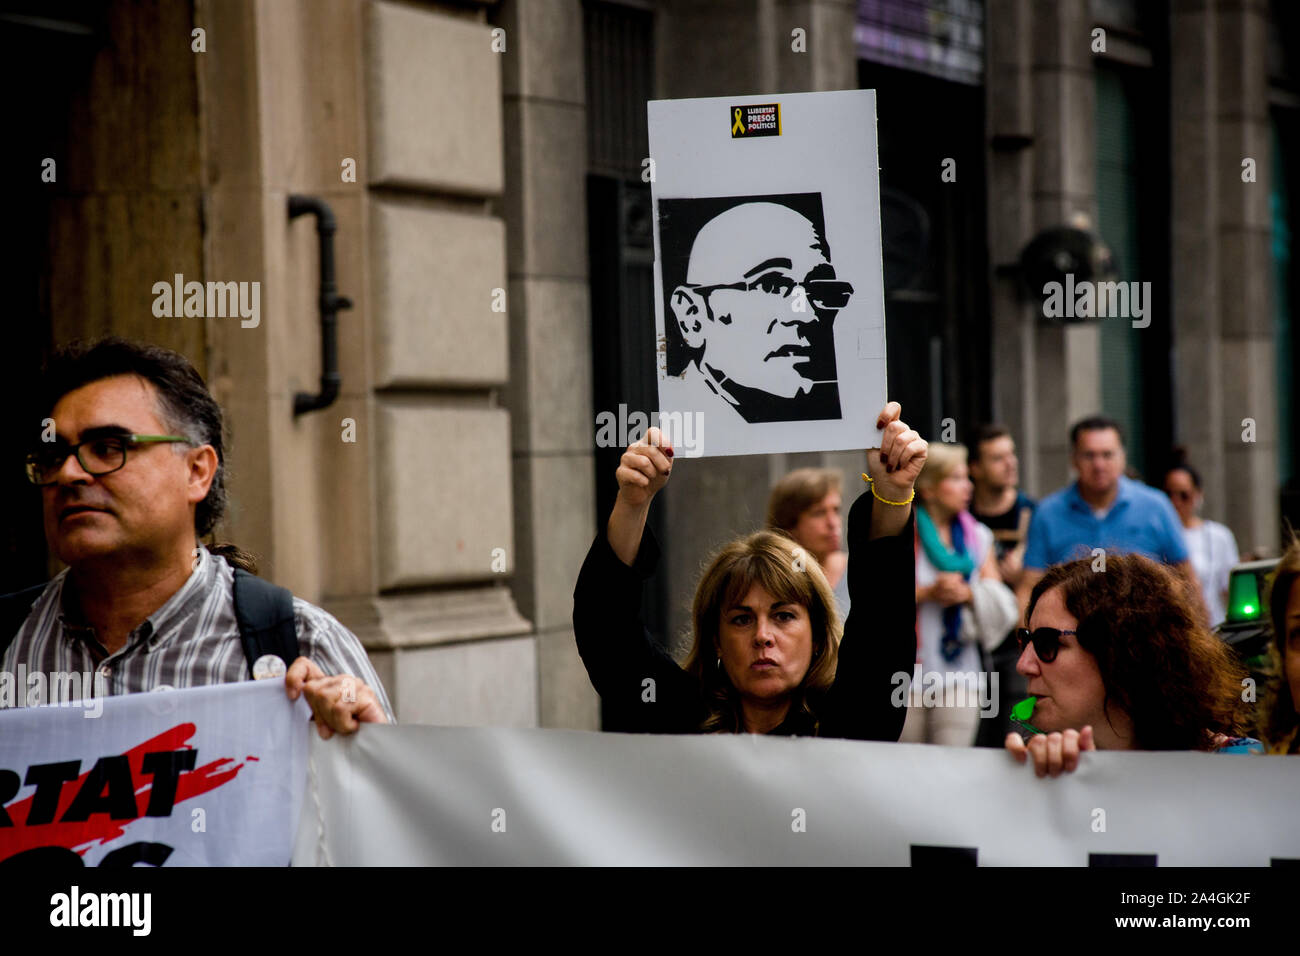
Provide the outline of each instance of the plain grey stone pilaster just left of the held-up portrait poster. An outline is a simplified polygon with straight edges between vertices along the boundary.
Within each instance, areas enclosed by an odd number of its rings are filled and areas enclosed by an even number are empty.
[[[573,640],[573,583],[595,535],[582,4],[507,0],[491,16],[507,42],[515,596],[536,627],[541,724],[595,730],[599,700]]]

